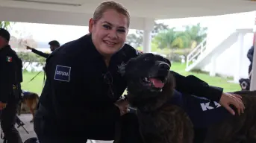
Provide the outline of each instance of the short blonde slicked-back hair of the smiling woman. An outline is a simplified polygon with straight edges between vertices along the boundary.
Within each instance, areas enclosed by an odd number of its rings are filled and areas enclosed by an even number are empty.
[[[128,19],[128,27],[130,26],[130,14],[128,10],[122,4],[116,3],[115,1],[105,1],[99,4],[93,13],[93,19],[96,21],[101,19],[103,13],[109,9],[116,10],[118,13],[125,15]]]

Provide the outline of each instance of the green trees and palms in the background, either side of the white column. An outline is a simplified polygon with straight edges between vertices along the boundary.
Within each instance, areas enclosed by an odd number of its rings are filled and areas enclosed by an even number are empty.
[[[197,25],[184,26],[184,31],[177,31],[176,28],[168,28],[162,23],[155,23],[152,31],[152,42],[158,48],[195,48],[207,36],[207,28],[200,23]],[[136,34],[129,34],[126,42],[134,47],[143,45],[143,31],[136,31]]]

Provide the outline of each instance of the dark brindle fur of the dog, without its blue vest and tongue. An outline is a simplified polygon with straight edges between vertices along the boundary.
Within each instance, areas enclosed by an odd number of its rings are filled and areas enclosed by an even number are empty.
[[[180,107],[165,104],[172,98],[175,83],[169,67],[163,63],[169,61],[154,54],[142,54],[127,63],[128,101],[139,111],[145,143],[193,142],[190,118]],[[163,88],[156,88],[150,77],[162,80]],[[236,112],[208,127],[205,143],[256,143],[256,91],[231,93],[242,96],[245,112],[242,115]]]

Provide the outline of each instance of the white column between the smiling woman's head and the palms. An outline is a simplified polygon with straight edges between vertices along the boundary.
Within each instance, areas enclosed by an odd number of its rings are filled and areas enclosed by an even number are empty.
[[[143,29],[143,52],[151,52],[151,42],[152,36],[151,32],[154,28],[154,19],[144,19],[144,29]]]

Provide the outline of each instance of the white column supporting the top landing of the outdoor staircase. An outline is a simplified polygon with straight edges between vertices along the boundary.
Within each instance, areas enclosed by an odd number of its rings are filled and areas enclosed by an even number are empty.
[[[242,65],[242,58],[243,58],[243,39],[244,39],[245,34],[244,33],[240,33],[238,36],[238,40],[237,40],[237,48],[238,53],[237,53],[237,61],[235,61],[234,63],[236,64],[236,71],[234,72],[234,82],[238,83],[240,80],[240,71],[241,71],[241,65]]]

